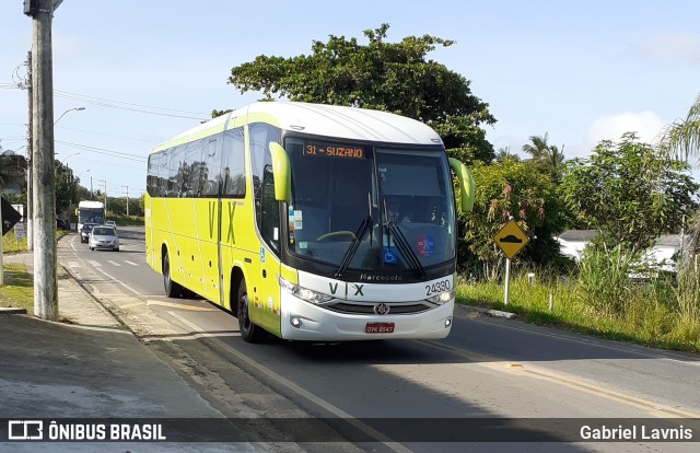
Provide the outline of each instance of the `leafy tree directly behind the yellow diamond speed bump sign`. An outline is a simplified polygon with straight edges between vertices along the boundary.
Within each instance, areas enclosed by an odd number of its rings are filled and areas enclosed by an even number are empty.
[[[530,237],[530,243],[518,257],[527,256],[528,249],[536,249],[547,258],[558,255],[558,244],[548,239],[563,229],[561,202],[547,175],[532,163],[513,160],[490,165],[477,163],[471,173],[476,196],[472,212],[462,214],[466,216],[463,237],[480,262],[485,277],[492,279],[499,275],[504,257],[493,236],[511,218]],[[535,256],[529,254],[530,258]]]

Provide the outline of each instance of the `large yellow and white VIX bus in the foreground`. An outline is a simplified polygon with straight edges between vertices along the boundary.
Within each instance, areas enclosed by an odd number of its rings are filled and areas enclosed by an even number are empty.
[[[189,290],[232,312],[248,342],[444,338],[456,270],[451,167],[470,210],[468,170],[420,121],[252,104],[152,150],[145,257],[167,297]]]

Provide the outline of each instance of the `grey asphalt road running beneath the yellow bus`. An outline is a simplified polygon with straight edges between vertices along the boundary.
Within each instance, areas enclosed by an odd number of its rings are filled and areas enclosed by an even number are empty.
[[[532,429],[553,441],[571,441],[552,428],[570,418],[700,419],[698,356],[593,339],[465,307],[456,311],[451,336],[440,341],[249,345],[241,339],[230,313],[205,300],[165,298],[162,277],[144,263],[138,229],[120,228],[119,234],[118,253],[90,252],[78,236],[68,236],[69,247],[62,248],[59,262],[229,417],[413,418],[441,419],[447,426],[465,417],[534,419]],[[376,451],[495,445],[412,442],[433,440],[431,435],[387,439],[371,421],[357,425],[380,439],[372,444]],[[700,430],[695,434],[697,442]],[[696,446],[645,440],[499,443],[498,450],[695,451]],[[334,444],[338,451],[355,448],[365,449]],[[329,450],[326,445],[317,451]]]

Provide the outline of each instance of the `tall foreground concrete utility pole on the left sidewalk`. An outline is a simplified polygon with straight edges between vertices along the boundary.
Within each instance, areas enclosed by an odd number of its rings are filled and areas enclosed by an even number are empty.
[[[31,3],[27,10],[26,3]],[[54,185],[54,0],[25,2],[32,16],[32,171],[34,220],[34,314],[58,320],[56,187]],[[56,2],[59,3],[59,2]]]

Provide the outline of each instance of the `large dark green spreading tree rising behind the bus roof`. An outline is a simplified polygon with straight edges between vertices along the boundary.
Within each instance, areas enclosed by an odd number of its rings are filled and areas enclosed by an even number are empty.
[[[311,55],[260,55],[232,68],[229,83],[242,93],[261,91],[267,101],[279,95],[401,114],[433,127],[451,155],[465,163],[490,162],[493,147],[481,128],[495,124],[488,104],[471,94],[463,76],[425,60],[436,46],[454,42],[423,35],[387,43],[388,27],[364,31],[368,45],[330,35],[327,43],[314,40]]]

